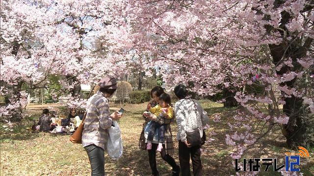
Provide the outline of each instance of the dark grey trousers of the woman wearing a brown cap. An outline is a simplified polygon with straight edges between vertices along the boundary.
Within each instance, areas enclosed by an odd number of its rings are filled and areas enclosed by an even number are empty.
[[[92,176],[105,176],[105,153],[100,147],[94,144],[84,147],[87,152],[90,166],[92,168]]]

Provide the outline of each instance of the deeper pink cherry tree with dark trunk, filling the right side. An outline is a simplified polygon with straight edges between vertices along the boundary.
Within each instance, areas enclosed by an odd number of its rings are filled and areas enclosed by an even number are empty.
[[[221,91],[217,85],[235,91],[242,108],[226,143],[240,158],[278,128],[291,148],[314,144],[313,7],[310,0],[130,1],[130,37],[167,84],[203,95]]]

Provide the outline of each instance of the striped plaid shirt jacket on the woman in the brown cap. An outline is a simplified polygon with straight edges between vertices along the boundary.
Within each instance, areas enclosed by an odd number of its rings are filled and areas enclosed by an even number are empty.
[[[106,150],[107,129],[112,125],[112,119],[109,113],[109,101],[102,92],[98,91],[88,99],[86,113],[82,133],[83,147],[95,144]]]

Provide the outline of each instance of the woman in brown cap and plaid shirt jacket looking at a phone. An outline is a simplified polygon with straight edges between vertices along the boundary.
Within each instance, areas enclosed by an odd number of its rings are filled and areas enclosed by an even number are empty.
[[[108,128],[113,120],[122,116],[118,111],[109,113],[108,98],[117,89],[117,81],[112,76],[105,76],[99,83],[99,91],[91,96],[86,104],[86,119],[82,133],[82,145],[88,155],[92,176],[105,176],[105,150]]]

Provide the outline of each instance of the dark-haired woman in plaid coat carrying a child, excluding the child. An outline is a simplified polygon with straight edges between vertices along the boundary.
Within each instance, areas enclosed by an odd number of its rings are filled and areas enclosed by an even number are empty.
[[[158,104],[158,97],[162,93],[164,93],[164,91],[163,91],[163,88],[161,88],[161,87],[155,87],[151,90],[151,97],[153,98],[153,100],[148,103],[147,111],[148,111],[148,107],[155,107]],[[143,114],[143,116],[145,118],[145,123],[143,124],[143,130],[142,130],[142,133],[140,136],[138,149],[146,150],[147,139],[145,139],[145,137],[144,137],[144,129],[145,129],[147,123],[150,120],[156,121],[159,124],[162,124],[163,122],[162,122],[162,118],[158,118],[156,115],[148,116],[147,114]],[[152,142],[152,150],[147,150],[148,151],[148,158],[149,158],[149,165],[152,169],[152,174],[154,176],[159,176],[159,173],[157,170],[157,164],[156,164],[157,146],[158,146],[158,141],[156,143],[153,141]],[[167,124],[166,130],[165,130],[164,144],[162,144],[162,147],[163,148],[160,152],[162,159],[165,160],[168,164],[170,164],[172,166],[172,175],[173,176],[179,176],[180,167],[176,164],[176,161],[173,159],[173,157],[170,156],[170,154],[173,154],[173,152],[174,152],[170,123]]]

